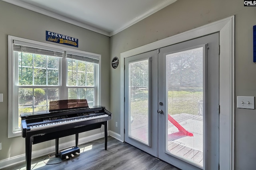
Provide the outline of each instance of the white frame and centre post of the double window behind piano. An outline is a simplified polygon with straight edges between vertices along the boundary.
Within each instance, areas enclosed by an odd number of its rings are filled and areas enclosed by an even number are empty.
[[[85,52],[85,51],[80,51],[77,49],[71,49],[68,47],[62,47],[62,46],[58,46],[58,45],[52,45],[52,44],[48,44],[48,43],[43,43],[43,42],[39,42],[39,41],[34,41],[34,40],[30,40],[30,39],[24,39],[24,38],[20,38],[20,37],[14,37],[12,35],[8,35],[8,138],[10,137],[17,137],[17,136],[21,136],[21,129],[17,129],[15,128],[15,123],[17,123],[17,118],[18,118],[18,113],[15,107],[18,106],[18,103],[16,100],[18,98],[18,93],[15,92],[15,85],[16,83],[18,83],[16,78],[16,66],[14,64],[16,64],[16,56],[14,56],[13,53],[13,42],[14,41],[20,41],[22,43],[22,45],[32,45],[33,47],[36,48],[41,48],[41,49],[49,49],[49,50],[54,50],[54,51],[60,51],[63,52],[64,55],[62,57],[62,63],[60,65],[60,79],[62,80],[62,82],[60,82],[59,86],[60,87],[60,100],[64,100],[67,99],[67,95],[63,95],[62,94],[67,94],[67,64],[66,64],[66,53],[68,52],[69,54],[74,54],[74,55],[80,55],[82,57],[89,57],[92,59],[96,59],[98,60],[98,68],[95,69],[95,74],[97,76],[97,78],[95,79],[96,82],[96,88],[94,91],[94,101],[95,101],[95,105],[100,105],[101,104],[101,100],[100,100],[100,96],[101,96],[101,55],[99,54],[95,54],[95,53],[89,53],[89,52]],[[63,83],[65,82],[65,83]],[[57,87],[56,87],[57,88]]]

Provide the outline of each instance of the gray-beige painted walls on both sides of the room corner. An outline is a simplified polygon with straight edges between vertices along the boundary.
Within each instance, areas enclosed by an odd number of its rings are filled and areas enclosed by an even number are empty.
[[[242,0],[178,0],[152,16],[111,38],[0,1],[0,161],[24,154],[22,137],[7,138],[8,133],[8,45],[7,35],[45,41],[45,31],[77,37],[79,50],[102,55],[102,105],[110,108],[110,130],[120,134],[120,66],[113,69],[110,60],[120,53],[176,35],[178,33],[235,15],[236,96],[256,96],[256,64],[252,62],[252,26],[256,25],[256,7],[244,7]],[[56,43],[53,43],[56,45]],[[66,46],[65,46],[66,47]],[[110,54],[110,55],[109,55]],[[109,63],[109,64],[106,64]],[[110,95],[111,94],[111,95]],[[110,96],[110,97],[109,97]],[[256,111],[235,109],[236,170],[254,169],[256,160]],[[118,128],[115,123],[118,122]],[[92,131],[83,136],[98,133]],[[66,137],[60,142],[74,140]],[[33,145],[32,150],[54,145],[54,141]]]

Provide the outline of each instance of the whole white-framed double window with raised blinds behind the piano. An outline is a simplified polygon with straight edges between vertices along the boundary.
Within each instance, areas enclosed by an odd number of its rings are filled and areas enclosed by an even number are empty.
[[[20,135],[21,113],[48,113],[49,102],[99,104],[100,55],[8,36],[8,137]]]

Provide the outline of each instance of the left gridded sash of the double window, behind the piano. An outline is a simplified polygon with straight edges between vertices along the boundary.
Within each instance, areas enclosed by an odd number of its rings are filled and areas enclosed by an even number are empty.
[[[59,100],[62,58],[22,51],[14,51],[14,56],[18,57],[18,124],[14,126],[19,130],[21,113],[48,112],[49,102]]]

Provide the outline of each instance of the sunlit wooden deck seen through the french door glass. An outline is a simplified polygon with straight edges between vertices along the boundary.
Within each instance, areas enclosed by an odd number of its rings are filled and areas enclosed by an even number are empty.
[[[177,135],[178,129],[168,121],[168,150],[171,154],[203,166],[203,117],[201,115],[171,115],[193,137]],[[132,126],[131,135],[139,140],[148,141],[148,125]]]

